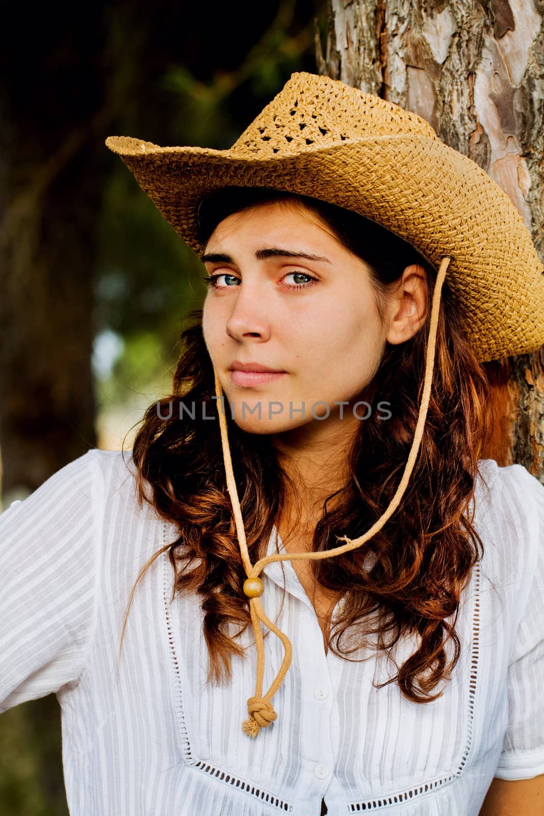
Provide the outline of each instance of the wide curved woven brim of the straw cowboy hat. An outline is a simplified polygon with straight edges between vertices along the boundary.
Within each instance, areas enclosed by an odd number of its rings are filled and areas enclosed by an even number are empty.
[[[109,136],[157,209],[194,251],[197,206],[227,185],[272,187],[347,207],[405,238],[437,269],[462,306],[480,361],[544,344],[544,277],[528,229],[489,175],[438,139],[374,136],[290,156],[160,147]]]

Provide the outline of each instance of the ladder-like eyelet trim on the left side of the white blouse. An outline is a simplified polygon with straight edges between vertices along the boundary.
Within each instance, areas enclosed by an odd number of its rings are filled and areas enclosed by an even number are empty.
[[[163,543],[166,545],[166,522],[162,525],[162,539]],[[173,626],[172,626],[172,619],[170,615],[170,603],[169,603],[169,595],[171,592],[171,585],[167,582],[167,577],[171,570],[168,569],[170,565],[170,560],[168,558],[168,551],[164,552],[164,558],[162,561],[162,574],[163,574],[163,595],[164,595],[164,607],[165,607],[165,615],[166,615],[166,629],[168,631],[168,644],[170,647],[170,658],[172,660],[172,666],[174,667],[174,683],[175,683],[175,716],[178,723],[179,734],[181,734],[182,743],[183,743],[183,753],[184,753],[184,760],[187,765],[191,765],[193,768],[197,768],[204,774],[209,774],[216,779],[219,779],[220,782],[223,782],[225,785],[230,787],[236,787],[237,790],[243,791],[248,796],[253,796],[255,799],[259,799],[259,801],[266,802],[269,807],[276,808],[278,810],[283,810],[285,813],[294,814],[294,807],[290,804],[290,802],[286,802],[283,799],[280,799],[279,796],[274,796],[271,792],[263,790],[262,787],[258,787],[250,782],[245,782],[244,779],[241,779],[237,776],[233,776],[232,774],[227,773],[227,771],[215,768],[214,765],[210,765],[210,763],[205,762],[203,760],[198,760],[192,754],[192,747],[189,741],[189,735],[187,730],[187,722],[185,720],[184,714],[184,704],[183,704],[183,692],[182,692],[182,685],[181,685],[181,675],[179,672],[179,663],[177,655],[175,654],[175,644],[174,644],[174,635],[173,635]]]

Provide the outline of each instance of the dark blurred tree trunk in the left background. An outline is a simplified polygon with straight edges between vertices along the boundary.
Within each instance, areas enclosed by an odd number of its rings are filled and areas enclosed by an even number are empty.
[[[11,12],[19,13],[28,9]],[[0,57],[4,505],[95,446],[93,272],[104,166],[93,44],[99,26],[84,20],[78,36],[71,17],[45,13],[33,23],[12,25]],[[73,37],[77,52],[70,51]]]

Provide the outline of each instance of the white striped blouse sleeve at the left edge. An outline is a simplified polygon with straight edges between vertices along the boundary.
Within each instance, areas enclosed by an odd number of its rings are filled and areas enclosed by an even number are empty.
[[[75,684],[85,666],[97,605],[97,452],[0,513],[0,712]]]

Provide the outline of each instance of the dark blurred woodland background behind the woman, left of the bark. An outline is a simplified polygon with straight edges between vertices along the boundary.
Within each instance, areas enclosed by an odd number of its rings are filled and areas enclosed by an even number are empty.
[[[230,147],[290,73],[316,73],[326,9],[136,0],[15,3],[2,17],[5,508],[90,447],[118,449],[128,433],[130,448],[206,291],[197,256],[105,138]],[[0,813],[67,812],[49,695],[0,717]]]

